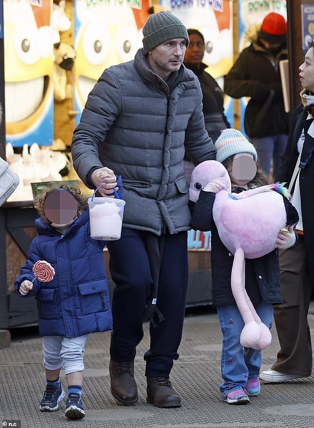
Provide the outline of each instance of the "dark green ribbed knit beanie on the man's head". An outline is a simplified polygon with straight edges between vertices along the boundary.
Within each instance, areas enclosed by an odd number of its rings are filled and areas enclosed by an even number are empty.
[[[170,12],[157,12],[149,16],[143,27],[143,50],[147,52],[170,39],[185,39],[189,45],[189,35],[180,19]]]

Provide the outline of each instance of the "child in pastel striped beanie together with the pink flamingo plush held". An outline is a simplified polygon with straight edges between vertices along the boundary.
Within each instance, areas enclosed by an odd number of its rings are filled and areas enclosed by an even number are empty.
[[[222,400],[247,404],[260,393],[261,350],[271,341],[272,305],[282,302],[277,248],[297,244],[298,214],[283,185],[269,185],[255,147],[241,132],[223,130],[215,148],[216,161],[192,172],[192,227],[211,231]]]

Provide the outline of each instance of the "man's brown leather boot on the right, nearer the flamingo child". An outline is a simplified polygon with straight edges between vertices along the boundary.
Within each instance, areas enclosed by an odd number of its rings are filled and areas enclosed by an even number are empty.
[[[181,407],[180,396],[167,378],[147,377],[147,402],[156,407]]]

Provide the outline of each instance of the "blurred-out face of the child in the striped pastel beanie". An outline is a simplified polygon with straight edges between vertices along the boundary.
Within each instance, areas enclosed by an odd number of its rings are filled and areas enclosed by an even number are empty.
[[[243,186],[253,180],[256,175],[256,162],[251,153],[237,153],[234,155],[232,171],[229,172],[232,183]]]

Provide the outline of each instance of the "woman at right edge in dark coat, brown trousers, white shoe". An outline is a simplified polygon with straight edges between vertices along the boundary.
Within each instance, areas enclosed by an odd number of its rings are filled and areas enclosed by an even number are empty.
[[[299,243],[280,250],[280,281],[283,303],[274,307],[280,350],[262,380],[282,382],[312,373],[312,344],[308,311],[314,286],[314,41],[299,67],[302,104],[293,114],[291,134],[276,180],[292,188],[291,202],[299,212]]]

